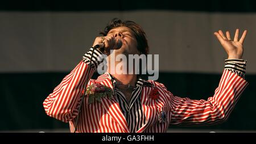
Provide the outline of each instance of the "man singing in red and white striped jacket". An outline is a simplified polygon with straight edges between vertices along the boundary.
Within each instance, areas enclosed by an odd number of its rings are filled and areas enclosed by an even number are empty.
[[[116,67],[127,65],[127,61],[111,63],[109,57],[123,54],[129,59],[129,54],[148,54],[148,44],[137,23],[113,19],[92,45],[105,46],[85,53],[44,100],[44,109],[48,116],[69,122],[71,132],[166,132],[169,125],[223,122],[248,84],[244,79],[246,61],[242,60],[246,32],[239,38],[237,29],[234,39],[229,32],[214,33],[228,54],[220,83],[208,100],[191,100],[174,96],[162,83],[138,77],[134,73],[138,67],[124,70],[133,73],[117,73]],[[115,49],[117,40],[122,42],[119,49]],[[106,73],[90,79],[104,60]]]

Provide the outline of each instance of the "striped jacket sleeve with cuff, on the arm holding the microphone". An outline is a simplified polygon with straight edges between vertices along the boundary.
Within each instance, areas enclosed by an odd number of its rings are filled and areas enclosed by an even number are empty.
[[[78,114],[82,98],[82,89],[86,86],[86,79],[90,79],[96,67],[104,60],[100,50],[94,50],[92,65],[89,70],[89,61],[92,48],[85,53],[82,61],[69,73],[53,92],[43,102],[44,110],[48,116],[68,122]],[[90,81],[91,82],[91,81]]]

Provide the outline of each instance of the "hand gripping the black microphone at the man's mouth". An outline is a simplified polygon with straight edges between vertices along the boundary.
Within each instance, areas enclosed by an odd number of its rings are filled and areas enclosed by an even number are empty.
[[[100,49],[102,53],[109,56],[111,49],[119,49],[122,46],[122,40],[114,36],[96,37],[93,47]]]

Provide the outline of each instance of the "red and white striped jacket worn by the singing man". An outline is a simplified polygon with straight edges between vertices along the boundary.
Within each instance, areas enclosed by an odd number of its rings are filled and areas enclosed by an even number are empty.
[[[69,122],[71,132],[75,131],[75,117],[81,103],[85,79],[91,78],[94,71],[95,69],[88,71],[88,65],[81,61],[43,102],[46,114]],[[212,97],[208,100],[191,100],[172,95],[162,83],[148,82],[154,87],[142,88],[141,103],[146,124],[137,131],[138,133],[166,132],[170,124],[204,125],[225,121],[248,84],[237,74],[224,70]],[[102,74],[96,80],[90,79],[89,85],[92,83],[101,83],[113,88],[108,74]],[[148,96],[155,87],[159,92],[159,98],[156,100]],[[158,120],[162,111],[167,114],[166,122]],[[88,104],[88,97],[85,97],[77,132],[128,133],[129,128],[117,101],[102,98],[101,103]]]

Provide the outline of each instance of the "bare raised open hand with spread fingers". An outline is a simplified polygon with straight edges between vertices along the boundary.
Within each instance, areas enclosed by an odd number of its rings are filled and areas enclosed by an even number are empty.
[[[236,30],[234,35],[234,40],[231,39],[229,31],[226,31],[226,36],[221,30],[214,32],[218,41],[220,41],[222,47],[225,49],[228,54],[228,59],[237,58],[241,59],[243,55],[243,41],[245,40],[247,30],[243,31],[243,34],[239,38],[239,29]]]

